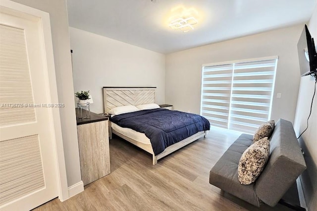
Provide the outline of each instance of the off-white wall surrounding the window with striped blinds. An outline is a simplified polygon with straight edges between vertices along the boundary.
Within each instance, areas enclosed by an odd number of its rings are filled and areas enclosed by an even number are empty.
[[[293,122],[300,81],[297,42],[303,26],[300,24],[166,55],[166,103],[173,104],[176,110],[199,114],[203,64],[278,56],[271,118]],[[276,98],[276,93],[282,93],[282,97]]]

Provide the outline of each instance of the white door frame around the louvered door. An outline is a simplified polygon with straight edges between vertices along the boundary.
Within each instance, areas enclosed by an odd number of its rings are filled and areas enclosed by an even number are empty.
[[[39,9],[35,9],[24,4],[20,4],[11,0],[1,0],[1,12],[5,12],[17,17],[32,18],[36,16],[39,18],[40,26],[42,27],[42,50],[45,52],[44,68],[49,79],[49,93],[52,103],[58,102],[55,65],[53,56],[53,43],[50,14]],[[53,108],[50,112],[50,119],[53,121],[53,154],[54,154],[54,168],[56,172],[56,185],[58,190],[58,199],[63,202],[69,198],[68,184],[66,176],[66,165],[64,157],[63,140],[61,133],[61,124],[59,116],[59,108]]]

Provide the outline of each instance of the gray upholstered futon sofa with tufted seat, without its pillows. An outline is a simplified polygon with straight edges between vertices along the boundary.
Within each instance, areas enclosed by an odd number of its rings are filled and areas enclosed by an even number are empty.
[[[305,160],[291,122],[280,119],[270,138],[270,156],[255,183],[241,185],[238,164],[242,153],[252,144],[252,135],[242,134],[210,171],[210,184],[252,205],[274,207],[306,169]]]

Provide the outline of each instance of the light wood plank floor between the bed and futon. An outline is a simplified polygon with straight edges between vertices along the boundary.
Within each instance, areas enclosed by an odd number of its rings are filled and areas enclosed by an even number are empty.
[[[211,167],[238,136],[212,130],[155,166],[149,153],[114,137],[109,175],[34,211],[290,211],[282,205],[259,209],[209,184]]]

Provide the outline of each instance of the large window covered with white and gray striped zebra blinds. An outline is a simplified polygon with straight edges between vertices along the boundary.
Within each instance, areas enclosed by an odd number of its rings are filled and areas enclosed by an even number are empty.
[[[270,119],[277,57],[203,66],[201,115],[211,125],[254,133]]]

